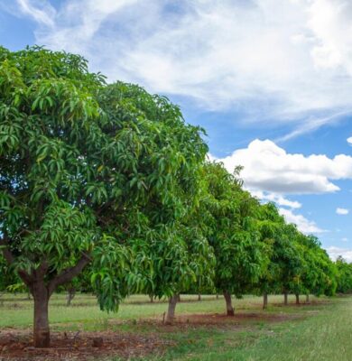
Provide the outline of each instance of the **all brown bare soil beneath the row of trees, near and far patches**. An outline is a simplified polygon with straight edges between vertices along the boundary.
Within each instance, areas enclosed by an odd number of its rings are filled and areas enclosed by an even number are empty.
[[[180,332],[182,329],[212,327],[214,329],[248,329],[257,322],[283,322],[298,319],[301,316],[284,313],[237,313],[235,317],[224,314],[190,314],[176,317],[173,325],[164,325],[158,319],[139,319],[134,324],[153,326],[159,332],[137,334],[120,331],[78,331],[51,332],[51,348],[32,347],[31,329],[2,329],[0,331],[0,361],[75,361],[104,359],[107,356],[120,356],[128,359],[132,356],[162,355],[174,342],[162,338],[162,332]],[[118,325],[126,322],[110,320],[108,324]],[[62,326],[62,324],[61,324]],[[68,325],[69,326],[69,325]],[[137,328],[138,329],[138,328]],[[94,347],[100,339],[103,344]]]

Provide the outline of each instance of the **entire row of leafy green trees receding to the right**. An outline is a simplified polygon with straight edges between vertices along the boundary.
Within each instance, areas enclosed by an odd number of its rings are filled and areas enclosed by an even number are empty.
[[[77,55],[0,48],[0,278],[32,293],[36,347],[50,345],[51,294],[82,274],[102,310],[168,297],[168,322],[190,289],[223,293],[228,315],[232,294],[265,307],[272,292],[336,291],[349,265],[243,190],[240,168],[208,162],[202,135]]]

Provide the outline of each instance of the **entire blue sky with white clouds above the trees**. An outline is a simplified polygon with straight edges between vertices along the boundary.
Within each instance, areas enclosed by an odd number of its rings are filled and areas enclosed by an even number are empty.
[[[352,261],[352,4],[0,0],[0,43],[84,55],[203,126],[211,157]]]

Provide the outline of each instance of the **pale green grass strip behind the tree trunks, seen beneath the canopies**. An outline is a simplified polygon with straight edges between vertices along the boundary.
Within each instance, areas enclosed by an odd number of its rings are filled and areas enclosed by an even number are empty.
[[[25,296],[25,295],[24,295]],[[4,295],[3,306],[0,307],[0,328],[18,327],[26,328],[32,325],[32,301],[26,300],[23,294]],[[198,296],[181,296],[181,303],[177,305],[176,312],[182,314],[192,313],[222,313],[224,312],[224,301],[222,297],[217,300],[215,296],[203,296],[204,301],[197,301]],[[273,302],[282,302],[282,296],[271,297]],[[290,299],[293,302],[293,297]],[[262,299],[259,297],[245,296],[241,300],[235,300],[234,306],[238,310],[259,309]],[[66,307],[65,295],[54,294],[51,297],[49,317],[51,324],[60,324],[67,322],[79,322],[80,326],[85,327],[92,322],[102,321],[104,319],[141,319],[141,318],[160,318],[163,312],[167,310],[166,301],[156,301],[150,303],[144,295],[134,295],[128,298],[117,313],[107,313],[98,309],[97,301],[89,295],[77,295],[72,301],[71,307]]]

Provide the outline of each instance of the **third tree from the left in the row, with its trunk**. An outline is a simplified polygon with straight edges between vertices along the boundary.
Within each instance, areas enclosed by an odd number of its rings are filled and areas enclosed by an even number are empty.
[[[217,260],[214,283],[224,294],[228,316],[234,315],[231,295],[251,290],[269,261],[256,224],[259,203],[242,190],[238,171],[229,174],[222,163],[207,164],[208,199],[202,209]]]

